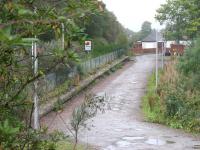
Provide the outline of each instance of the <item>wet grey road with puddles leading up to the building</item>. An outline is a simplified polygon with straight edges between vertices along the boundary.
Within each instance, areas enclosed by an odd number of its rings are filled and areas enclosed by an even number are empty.
[[[102,150],[190,150],[200,149],[200,138],[183,131],[144,122],[140,109],[147,77],[155,66],[154,55],[137,56],[91,90],[106,92],[111,96],[111,110],[97,114],[88,121],[91,130],[82,129],[80,141],[98,146]],[[80,94],[66,104],[62,118],[68,123],[73,109],[80,104]],[[65,126],[55,113],[42,118],[42,124],[51,130],[66,132]],[[55,118],[55,119],[54,119]],[[52,121],[53,120],[53,121]]]

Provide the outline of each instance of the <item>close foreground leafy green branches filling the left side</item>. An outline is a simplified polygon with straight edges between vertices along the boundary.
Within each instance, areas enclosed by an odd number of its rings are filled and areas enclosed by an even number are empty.
[[[39,3],[40,2],[40,3]],[[76,55],[70,42],[81,41],[83,29],[77,19],[97,12],[96,0],[62,1],[3,0],[0,3],[0,149],[49,149],[44,136],[31,129],[33,102],[30,87],[33,81],[61,64],[68,65]],[[46,3],[43,5],[42,3]],[[62,4],[55,7],[55,5]],[[59,8],[59,11],[58,11]],[[31,43],[49,31],[59,38],[61,23],[66,26],[65,49],[52,51],[53,63],[32,73]],[[40,38],[43,39],[43,38]],[[45,57],[39,55],[38,57]],[[38,147],[40,145],[43,147]]]

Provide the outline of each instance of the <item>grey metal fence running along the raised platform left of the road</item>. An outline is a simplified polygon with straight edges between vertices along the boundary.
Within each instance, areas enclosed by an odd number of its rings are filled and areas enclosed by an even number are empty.
[[[111,53],[81,62],[73,68],[63,68],[61,70],[57,70],[56,72],[47,74],[46,76],[39,79],[38,94],[42,96],[45,93],[53,91],[56,87],[62,85],[67,80],[72,81],[75,76],[80,73],[78,68],[81,69],[82,73],[87,75],[99,69],[100,67],[111,63],[115,59],[120,58],[124,53],[125,51],[123,49],[116,50]]]

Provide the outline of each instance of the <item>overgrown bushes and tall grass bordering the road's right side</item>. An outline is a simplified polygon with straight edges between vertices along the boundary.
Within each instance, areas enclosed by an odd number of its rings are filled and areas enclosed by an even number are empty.
[[[160,73],[158,89],[149,79],[143,100],[145,116],[174,128],[200,133],[200,38],[184,56],[173,60]],[[148,110],[148,111],[147,111]]]

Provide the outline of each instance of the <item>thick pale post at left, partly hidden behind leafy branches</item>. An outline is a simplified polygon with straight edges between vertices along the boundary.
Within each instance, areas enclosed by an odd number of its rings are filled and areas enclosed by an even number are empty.
[[[36,36],[35,36],[36,40]],[[37,58],[37,43],[36,41],[32,42],[32,62],[33,62],[33,74],[36,77],[38,75],[38,58]],[[37,88],[38,88],[38,81],[34,81],[34,90],[33,90],[33,103],[34,103],[34,110],[33,110],[33,128],[39,129],[39,108],[38,108],[38,95],[37,95]]]

